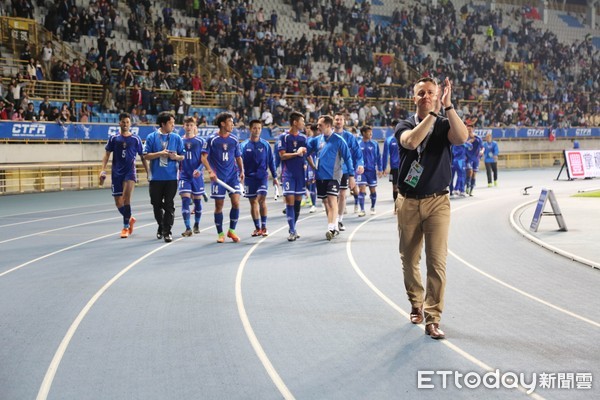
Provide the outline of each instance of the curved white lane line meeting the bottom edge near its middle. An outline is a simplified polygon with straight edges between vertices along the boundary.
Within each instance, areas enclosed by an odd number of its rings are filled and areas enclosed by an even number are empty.
[[[311,216],[302,218],[299,221],[304,221],[304,220],[307,220],[307,219],[310,219],[313,217],[316,217],[316,215],[311,215]],[[277,387],[277,389],[279,390],[279,393],[281,393],[283,398],[286,400],[293,400],[293,399],[295,399],[294,395],[292,394],[292,392],[290,392],[290,390],[286,386],[285,382],[283,382],[283,379],[281,379],[281,376],[279,376],[275,367],[273,367],[273,364],[271,363],[271,360],[269,360],[267,353],[265,353],[265,350],[263,349],[262,345],[260,344],[260,341],[258,340],[256,333],[254,333],[254,329],[252,329],[252,324],[250,323],[250,319],[248,318],[248,313],[246,312],[246,307],[244,306],[244,297],[242,295],[242,279],[244,276],[244,269],[246,268],[246,264],[247,264],[248,260],[250,259],[250,256],[252,255],[252,253],[254,253],[254,250],[256,250],[258,248],[258,246],[260,246],[262,244],[262,242],[264,242],[268,238],[272,237],[277,232],[280,232],[287,228],[288,228],[288,225],[284,225],[281,228],[271,232],[271,234],[269,236],[264,237],[264,238],[260,239],[258,242],[256,242],[254,244],[254,246],[252,246],[250,248],[250,250],[248,250],[248,252],[244,255],[244,258],[242,258],[242,261],[240,261],[240,265],[238,267],[238,271],[235,276],[235,302],[237,304],[238,314],[240,316],[240,320],[242,321],[244,331],[246,332],[246,336],[248,337],[248,340],[250,341],[250,344],[252,345],[252,348],[254,349],[256,356],[262,363],[263,367],[265,368],[265,371],[267,371],[267,374],[269,374],[271,381],[273,381],[273,383],[275,384],[275,386]]]

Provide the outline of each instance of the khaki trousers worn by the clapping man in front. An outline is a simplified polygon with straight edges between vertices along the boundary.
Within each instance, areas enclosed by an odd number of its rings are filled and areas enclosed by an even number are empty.
[[[444,309],[446,258],[450,227],[448,195],[422,200],[396,199],[400,259],[410,304],[423,307],[425,323],[439,323]],[[425,240],[426,290],[421,280],[421,250]]]

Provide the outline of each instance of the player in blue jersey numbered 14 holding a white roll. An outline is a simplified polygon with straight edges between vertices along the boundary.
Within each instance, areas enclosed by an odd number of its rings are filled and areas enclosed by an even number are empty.
[[[215,227],[219,234],[217,243],[225,241],[223,204],[225,203],[225,193],[228,191],[217,180],[233,189],[233,192],[229,193],[231,210],[229,211],[227,237],[237,243],[240,238],[235,233],[235,227],[240,217],[240,194],[242,193],[240,182],[244,181],[244,164],[238,138],[231,134],[233,131],[233,116],[228,112],[219,113],[215,118],[215,124],[219,127],[219,132],[208,138],[204,143],[202,164],[204,164],[212,181],[210,197],[215,199]]]

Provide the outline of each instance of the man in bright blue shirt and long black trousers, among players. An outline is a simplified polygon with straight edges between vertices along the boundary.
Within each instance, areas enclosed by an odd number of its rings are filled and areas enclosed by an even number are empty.
[[[150,202],[158,223],[157,239],[173,241],[171,228],[175,221],[175,195],[179,161],[185,152],[181,136],[173,133],[175,118],[163,111],[156,117],[158,129],[150,133],[144,144],[144,157],[150,160]]]

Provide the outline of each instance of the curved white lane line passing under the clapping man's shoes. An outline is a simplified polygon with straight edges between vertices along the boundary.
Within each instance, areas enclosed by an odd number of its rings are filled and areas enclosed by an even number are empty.
[[[388,296],[386,296],[381,290],[379,290],[379,288],[377,288],[377,286],[375,286],[373,284],[373,282],[371,282],[371,280],[369,278],[367,278],[367,276],[362,272],[362,270],[360,269],[360,267],[356,263],[356,260],[354,259],[354,256],[352,255],[352,239],[354,238],[354,235],[359,231],[359,229],[362,228],[364,225],[366,225],[368,222],[374,220],[375,218],[381,217],[382,215],[389,214],[391,212],[392,211],[386,211],[386,212],[384,212],[381,215],[377,215],[375,217],[371,217],[371,218],[367,219],[366,221],[362,222],[356,228],[354,228],[354,230],[352,231],[352,233],[350,234],[350,236],[348,236],[348,239],[346,240],[346,253],[348,255],[348,260],[350,261],[350,264],[352,265],[352,268],[354,269],[354,271],[356,272],[356,274],[363,280],[363,282],[373,292],[375,292],[375,294],[377,296],[379,296],[379,298],[381,298],[386,304],[388,304],[395,311],[397,311],[400,315],[402,315],[403,317],[405,317],[407,320],[410,321],[410,315],[406,311],[404,311],[398,304],[394,303],[394,301],[392,299],[390,299]],[[419,329],[421,329],[423,332],[425,332],[425,327],[423,325],[416,325],[416,326]],[[486,370],[488,372],[494,372],[495,371],[494,368],[492,368],[491,366],[489,366],[485,362],[481,361],[477,357],[473,356],[472,354],[470,354],[470,353],[466,352],[465,350],[461,349],[460,347],[458,347],[457,345],[455,345],[454,343],[452,343],[450,340],[444,339],[444,340],[440,340],[439,342],[441,342],[444,346],[448,347],[450,350],[454,351],[455,353],[457,353],[461,357],[463,357],[466,360],[468,360],[468,361],[472,362],[473,364],[477,365],[479,368],[481,368],[483,370]],[[519,386],[517,389],[519,391],[523,392],[524,394],[527,394],[527,390],[525,388]],[[538,395],[536,393],[533,393],[533,392],[531,394],[529,394],[529,396],[531,398],[536,399],[536,400],[543,400],[544,399],[542,396],[540,396],[540,395]]]

